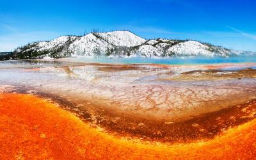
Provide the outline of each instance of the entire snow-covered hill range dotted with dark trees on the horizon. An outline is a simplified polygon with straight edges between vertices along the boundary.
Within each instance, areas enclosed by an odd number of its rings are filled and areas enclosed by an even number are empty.
[[[34,42],[17,48],[9,59],[63,58],[76,56],[239,56],[233,51],[193,40],[145,40],[129,31],[61,36],[51,41]]]

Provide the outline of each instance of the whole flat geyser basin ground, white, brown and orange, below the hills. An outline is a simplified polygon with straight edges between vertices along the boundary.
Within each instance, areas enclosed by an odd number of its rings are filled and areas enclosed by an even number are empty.
[[[45,154],[30,156],[58,158],[58,152],[79,145],[72,152],[77,157],[250,158],[255,154],[255,66],[1,62],[1,141],[18,146],[3,148],[12,156],[28,157],[26,147],[33,152],[46,140]],[[50,124],[54,120],[72,127],[56,129]],[[44,130],[34,131],[34,125]],[[34,144],[30,137],[40,142]],[[23,139],[29,142],[19,143]],[[105,148],[109,143],[116,152]]]

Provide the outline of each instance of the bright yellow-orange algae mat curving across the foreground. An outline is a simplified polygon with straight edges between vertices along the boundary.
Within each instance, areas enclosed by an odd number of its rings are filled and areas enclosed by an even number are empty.
[[[254,159],[255,140],[256,120],[198,143],[122,140],[34,95],[0,94],[0,159]]]

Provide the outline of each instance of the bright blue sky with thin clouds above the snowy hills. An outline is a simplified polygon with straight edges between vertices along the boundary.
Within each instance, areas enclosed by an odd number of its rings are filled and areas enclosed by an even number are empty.
[[[1,1],[0,51],[93,29],[256,51],[254,0]]]

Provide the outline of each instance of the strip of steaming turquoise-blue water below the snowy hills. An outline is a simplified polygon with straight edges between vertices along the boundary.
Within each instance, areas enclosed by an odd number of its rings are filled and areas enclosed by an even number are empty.
[[[166,64],[166,65],[204,65],[218,63],[256,63],[256,56],[234,58],[72,58],[72,61],[88,63],[111,63],[111,64]]]

